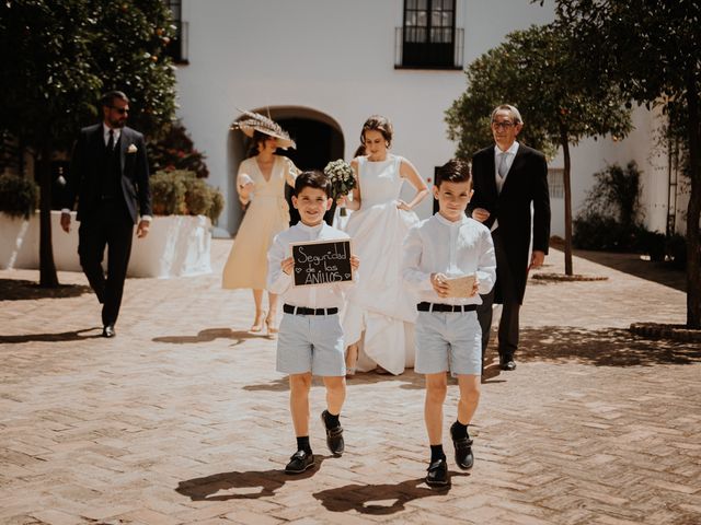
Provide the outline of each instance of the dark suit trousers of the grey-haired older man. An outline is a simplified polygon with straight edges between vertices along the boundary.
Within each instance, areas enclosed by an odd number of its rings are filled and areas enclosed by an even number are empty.
[[[518,348],[518,314],[521,307],[515,291],[514,278],[506,260],[504,237],[499,234],[498,228],[492,232],[492,240],[494,241],[494,254],[496,255],[496,283],[490,293],[481,295],[482,304],[478,306],[478,320],[482,328],[482,363],[484,363],[484,353],[490,343],[492,305],[494,304],[496,288],[499,287],[503,301],[502,317],[499,318],[497,332],[498,352],[502,359],[514,357]]]

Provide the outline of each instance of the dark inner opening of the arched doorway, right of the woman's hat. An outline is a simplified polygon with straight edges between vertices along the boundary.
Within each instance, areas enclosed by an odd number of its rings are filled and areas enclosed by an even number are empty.
[[[323,171],[329,162],[343,159],[343,137],[334,127],[307,118],[280,118],[277,121],[297,143],[297,149],[280,153],[288,156],[300,170]],[[299,212],[292,206],[291,195],[291,188],[286,186],[285,198],[289,205],[290,225],[299,222]],[[335,203],[324,215],[327,224],[331,224],[334,211]]]

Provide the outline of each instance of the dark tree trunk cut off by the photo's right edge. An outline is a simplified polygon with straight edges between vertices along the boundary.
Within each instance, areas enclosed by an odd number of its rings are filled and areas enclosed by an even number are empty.
[[[699,219],[701,219],[701,166],[699,148],[701,114],[699,92],[696,86],[694,68],[687,72],[687,100],[689,105],[689,167],[691,172],[691,196],[687,210],[687,328],[701,328],[701,247]]]

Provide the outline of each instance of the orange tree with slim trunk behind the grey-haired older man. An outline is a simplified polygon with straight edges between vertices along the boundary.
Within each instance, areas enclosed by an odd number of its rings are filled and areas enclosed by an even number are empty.
[[[570,145],[585,137],[624,137],[631,129],[630,110],[618,88],[605,80],[585,82],[585,68],[553,25],[514,32],[470,65],[467,91],[446,112],[448,136],[459,140],[460,156],[492,142],[490,115],[499,104],[518,107],[525,120],[519,135],[524,143],[548,156],[562,148],[568,276],[573,275]]]

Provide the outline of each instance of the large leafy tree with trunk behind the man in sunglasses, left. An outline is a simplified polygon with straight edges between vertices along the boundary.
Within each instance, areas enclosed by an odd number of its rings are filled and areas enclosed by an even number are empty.
[[[50,161],[100,115],[100,93],[127,92],[131,121],[153,132],[174,113],[175,78],[160,52],[172,33],[161,0],[7,0],[0,5],[0,131],[36,160],[39,284],[58,284],[51,249]]]

